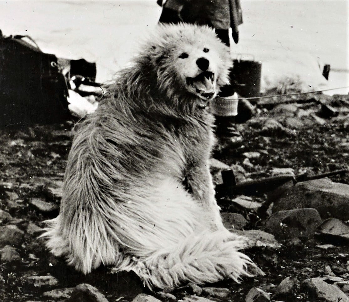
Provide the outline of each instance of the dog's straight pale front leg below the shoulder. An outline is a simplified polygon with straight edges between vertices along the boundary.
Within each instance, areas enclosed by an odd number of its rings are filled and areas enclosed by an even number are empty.
[[[187,171],[186,181],[195,200],[198,200],[207,210],[206,218],[210,221],[213,230],[224,228],[208,164],[193,165]]]

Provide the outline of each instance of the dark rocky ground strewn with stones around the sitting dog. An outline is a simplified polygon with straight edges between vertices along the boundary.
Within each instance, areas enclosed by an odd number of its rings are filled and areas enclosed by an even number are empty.
[[[347,168],[349,96],[241,104],[243,141],[218,146],[211,170],[225,225],[247,236],[261,269],[255,277],[151,293],[134,274],[101,267],[84,276],[50,255],[37,237],[59,211],[67,122],[0,133],[0,300],[349,301],[349,174],[304,181]],[[226,190],[232,173],[240,187],[250,181],[245,195]],[[274,186],[251,183],[277,175],[285,180]]]

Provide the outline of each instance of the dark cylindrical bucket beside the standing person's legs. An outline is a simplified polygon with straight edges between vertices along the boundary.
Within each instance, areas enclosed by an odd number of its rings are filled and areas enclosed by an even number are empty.
[[[242,97],[260,96],[262,64],[254,60],[233,60],[236,91]]]

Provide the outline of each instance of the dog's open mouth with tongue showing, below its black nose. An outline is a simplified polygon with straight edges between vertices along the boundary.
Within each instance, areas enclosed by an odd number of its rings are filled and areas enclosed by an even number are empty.
[[[208,105],[208,101],[212,100],[217,94],[215,74],[213,72],[204,71],[195,78],[188,77],[186,80],[188,87],[202,100],[199,103],[201,108],[205,108]]]

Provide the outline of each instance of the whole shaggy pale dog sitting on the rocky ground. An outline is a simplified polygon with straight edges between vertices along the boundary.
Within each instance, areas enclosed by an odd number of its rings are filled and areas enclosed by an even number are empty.
[[[77,127],[47,246],[83,273],[134,271],[150,288],[239,280],[251,260],[223,227],[209,172],[229,50],[212,29],[162,25]]]

